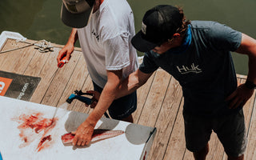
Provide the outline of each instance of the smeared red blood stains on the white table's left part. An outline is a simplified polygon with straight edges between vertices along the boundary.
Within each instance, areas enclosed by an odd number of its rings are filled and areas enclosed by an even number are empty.
[[[20,148],[29,146],[32,142],[38,139],[40,139],[36,148],[38,152],[51,145],[52,138],[49,132],[56,125],[58,118],[43,118],[42,113],[34,113],[21,114],[19,117],[12,118],[12,120],[19,124],[19,137],[23,141],[19,146]]]

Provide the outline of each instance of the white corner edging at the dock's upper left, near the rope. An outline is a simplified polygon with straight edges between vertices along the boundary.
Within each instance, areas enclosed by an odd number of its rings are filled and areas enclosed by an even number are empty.
[[[2,48],[2,45],[6,42],[7,38],[26,41],[26,38],[24,38],[22,34],[19,34],[17,32],[2,31],[2,33],[0,34],[0,49]]]

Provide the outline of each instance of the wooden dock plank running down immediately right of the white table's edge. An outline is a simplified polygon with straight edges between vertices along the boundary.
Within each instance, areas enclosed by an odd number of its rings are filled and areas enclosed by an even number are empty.
[[[166,146],[168,145],[170,134],[173,131],[174,122],[182,102],[182,87],[174,78],[170,79],[166,97],[162,104],[160,114],[156,123],[157,134],[150,151],[149,159],[163,159]],[[168,152],[170,153],[170,152]],[[166,155],[169,157],[169,155]],[[170,156],[171,157],[171,156]]]

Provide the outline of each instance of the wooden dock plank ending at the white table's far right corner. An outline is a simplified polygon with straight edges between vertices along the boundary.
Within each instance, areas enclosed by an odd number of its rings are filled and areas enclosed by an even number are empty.
[[[169,82],[170,74],[167,74],[164,70],[157,70],[138,124],[145,126],[155,125]]]

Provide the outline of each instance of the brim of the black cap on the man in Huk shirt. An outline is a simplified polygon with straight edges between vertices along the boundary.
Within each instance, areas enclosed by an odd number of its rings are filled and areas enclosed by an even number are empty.
[[[148,52],[152,49],[154,49],[155,46],[158,46],[157,44],[153,42],[146,41],[146,39],[142,38],[142,30],[140,30],[132,39],[131,43],[134,46],[134,48],[141,52]]]

